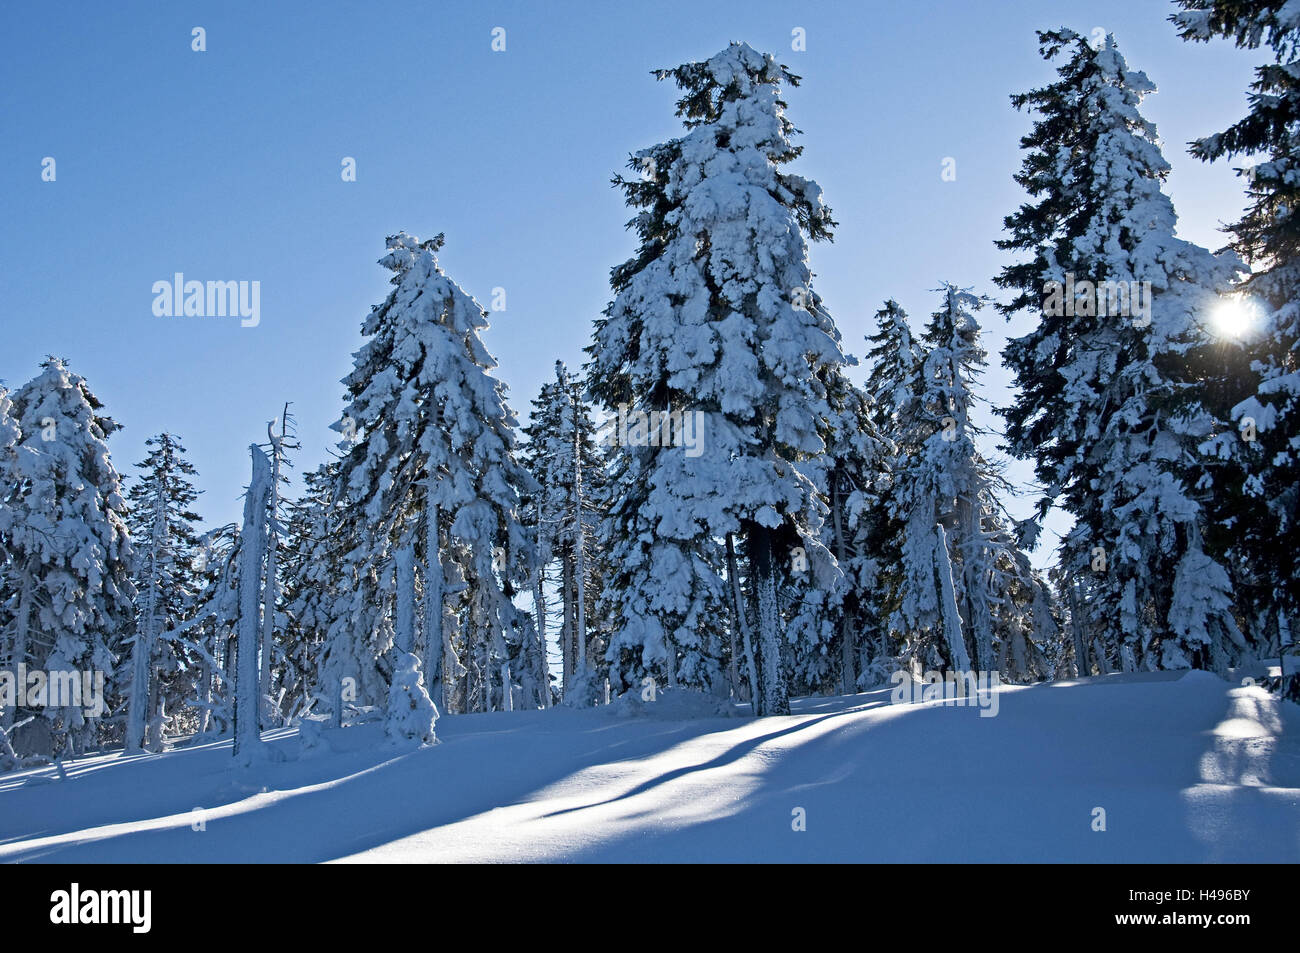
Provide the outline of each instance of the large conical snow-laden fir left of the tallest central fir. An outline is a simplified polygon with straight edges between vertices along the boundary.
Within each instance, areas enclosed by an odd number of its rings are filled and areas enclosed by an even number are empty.
[[[519,512],[532,477],[515,458],[504,385],[489,374],[497,363],[480,339],[486,312],[439,268],[442,235],[421,242],[399,233],[387,244],[381,264],[394,289],[363,324],[367,342],[343,381],[348,404],[335,425],[355,433],[339,488],[363,530],[343,559],[350,611],[337,614],[352,619],[334,634],[354,640],[363,667],[391,671],[382,633],[395,612],[394,560],[413,547],[425,684],[445,710],[445,677],[464,664],[476,684],[463,705],[486,710],[508,694],[504,633],[516,610],[507,590],[529,577],[534,558]],[[459,562],[467,585],[459,659],[443,627],[446,560]]]

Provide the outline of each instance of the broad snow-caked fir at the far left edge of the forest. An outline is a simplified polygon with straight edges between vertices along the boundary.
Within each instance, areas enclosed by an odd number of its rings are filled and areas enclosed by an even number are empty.
[[[14,423],[18,439],[5,454],[16,480],[5,488],[0,655],[3,671],[14,676],[20,664],[91,673],[92,685],[101,676],[107,702],[117,707],[117,659],[134,628],[135,589],[127,507],[108,451],[118,424],[101,411],[84,378],[57,358],[13,394],[5,441]],[[107,729],[99,732],[109,712],[82,701],[6,707],[0,727],[34,716],[14,735],[14,746],[30,755],[74,754],[110,741]]]

